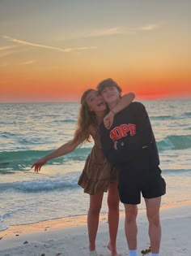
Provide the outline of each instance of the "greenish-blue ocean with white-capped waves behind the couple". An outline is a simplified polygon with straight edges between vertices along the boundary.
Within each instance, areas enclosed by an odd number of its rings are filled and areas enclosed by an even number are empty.
[[[162,204],[189,201],[191,101],[142,103],[151,118],[167,183]],[[31,169],[38,158],[70,141],[78,113],[78,102],[0,104],[0,231],[11,225],[87,214],[89,196],[78,179],[92,142],[53,159],[38,174]],[[102,213],[107,212],[106,195]],[[138,207],[145,208],[143,200]]]

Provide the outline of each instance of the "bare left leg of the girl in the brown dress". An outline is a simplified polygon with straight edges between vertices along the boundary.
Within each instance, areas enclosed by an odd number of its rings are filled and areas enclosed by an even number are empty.
[[[97,193],[96,195],[90,195],[90,207],[87,214],[87,228],[90,251],[94,251],[96,249],[96,235],[103,196],[104,192]]]

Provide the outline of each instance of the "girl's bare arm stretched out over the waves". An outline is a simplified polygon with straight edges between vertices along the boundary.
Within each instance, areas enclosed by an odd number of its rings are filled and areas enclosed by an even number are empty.
[[[45,163],[47,163],[49,160],[53,159],[53,158],[58,158],[62,155],[68,154],[71,151],[75,150],[77,148],[78,145],[80,145],[82,141],[69,141],[65,144],[63,144],[62,146],[60,146],[57,150],[54,150],[53,152],[51,152],[50,154],[46,154],[45,157],[40,158],[38,161],[36,161],[36,163],[32,164],[32,168],[35,168],[35,172],[39,172],[41,167],[45,165]]]

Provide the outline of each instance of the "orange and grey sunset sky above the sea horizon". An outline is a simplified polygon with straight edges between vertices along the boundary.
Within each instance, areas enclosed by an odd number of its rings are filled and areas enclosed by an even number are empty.
[[[112,77],[191,98],[190,0],[0,0],[0,102],[79,100]]]

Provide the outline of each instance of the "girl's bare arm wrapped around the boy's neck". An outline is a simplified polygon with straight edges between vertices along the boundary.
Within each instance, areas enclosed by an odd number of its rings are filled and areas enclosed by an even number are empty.
[[[133,102],[134,98],[135,98],[134,93],[126,93],[125,95],[123,95],[121,97],[120,102],[118,102],[117,105],[114,106],[112,108],[112,110],[110,110],[108,112],[108,115],[105,115],[105,117],[104,117],[104,126],[105,126],[105,128],[107,128],[107,129],[111,128],[114,116],[117,113],[119,113],[120,111],[122,111],[123,109],[125,109],[126,106],[129,106],[129,104],[131,102]]]

